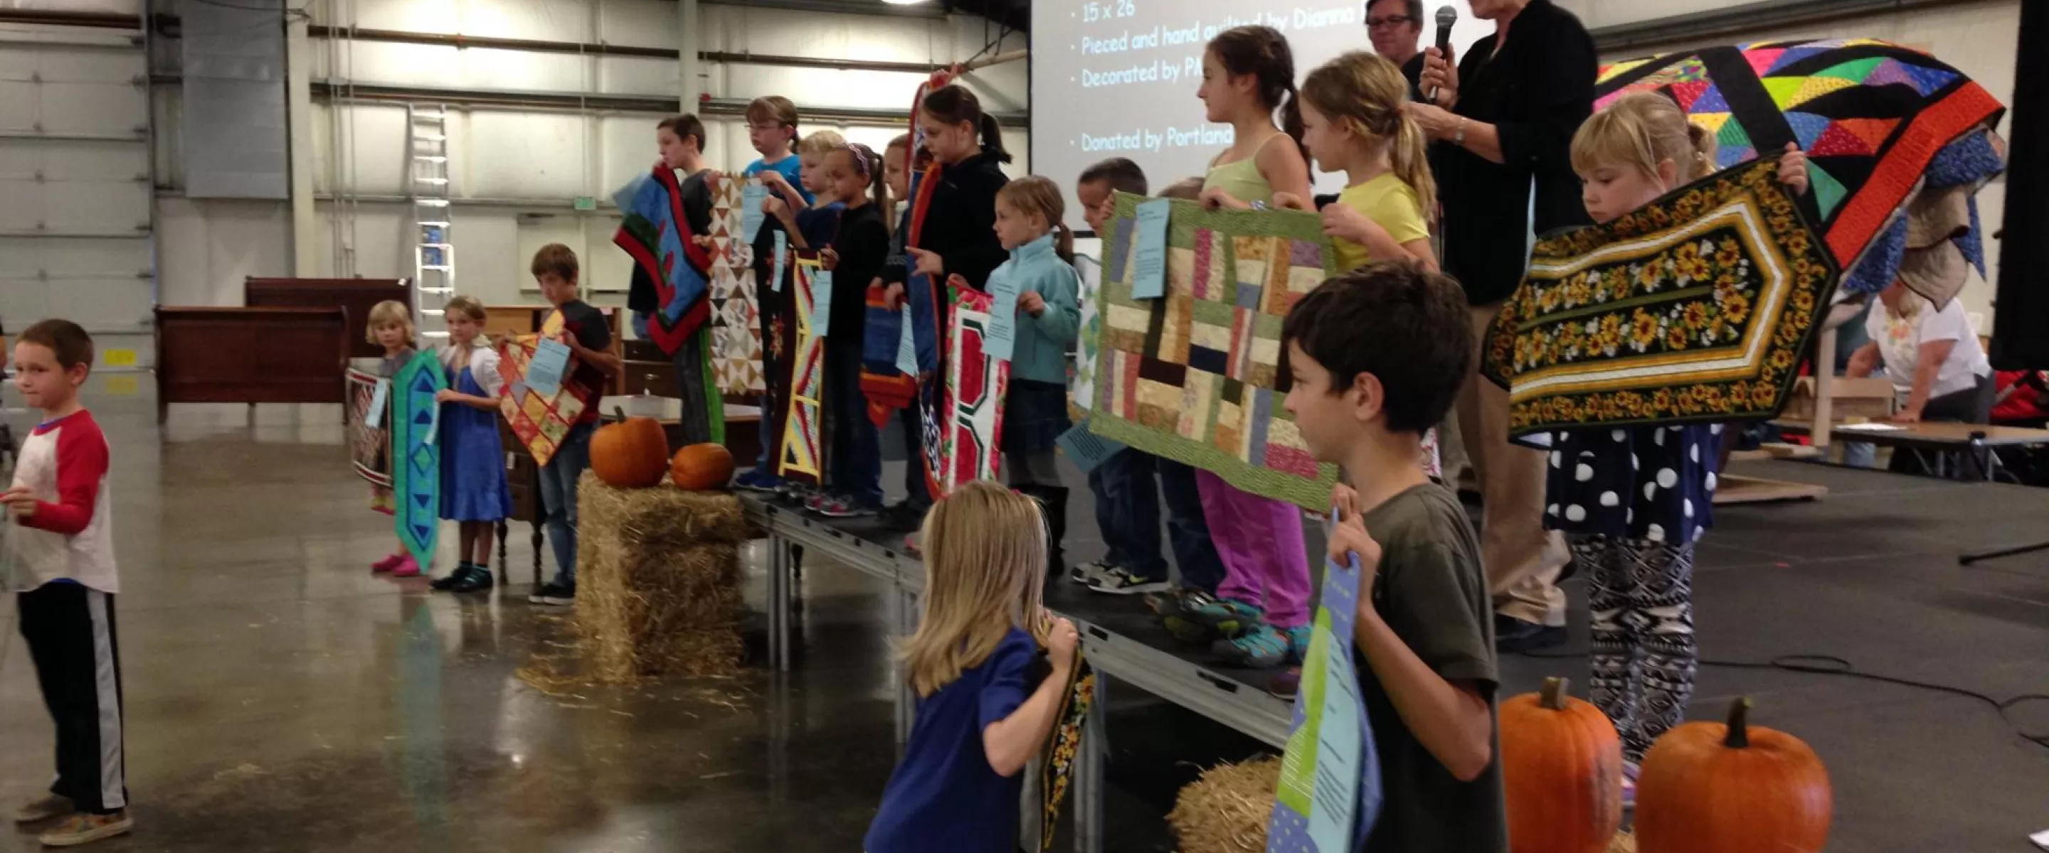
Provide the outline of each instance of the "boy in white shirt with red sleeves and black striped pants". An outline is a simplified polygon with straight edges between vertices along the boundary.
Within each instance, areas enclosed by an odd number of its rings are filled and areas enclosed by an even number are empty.
[[[43,704],[57,724],[57,781],[16,822],[68,816],[43,845],[74,847],[123,835],[121,659],[115,644],[113,509],[107,438],[78,403],[92,372],[92,335],[45,319],[14,342],[14,385],[43,423],[20,444],[14,485],[0,491],[8,585],[20,593],[20,636],[35,659]]]

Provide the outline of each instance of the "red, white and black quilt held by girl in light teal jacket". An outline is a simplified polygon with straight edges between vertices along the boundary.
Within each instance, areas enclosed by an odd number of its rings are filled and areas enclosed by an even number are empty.
[[[940,395],[938,481],[928,483],[934,495],[969,481],[996,479],[1002,462],[1004,393],[1010,389],[1010,362],[981,354],[981,335],[990,327],[990,295],[955,290],[953,333],[947,344],[947,387]],[[930,468],[928,468],[930,470]]]

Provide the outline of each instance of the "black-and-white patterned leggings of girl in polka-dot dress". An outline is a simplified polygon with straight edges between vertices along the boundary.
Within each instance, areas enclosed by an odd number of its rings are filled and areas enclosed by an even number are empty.
[[[1572,536],[1588,569],[1594,706],[1615,722],[1623,757],[1643,761],[1686,718],[1692,695],[1692,542]]]

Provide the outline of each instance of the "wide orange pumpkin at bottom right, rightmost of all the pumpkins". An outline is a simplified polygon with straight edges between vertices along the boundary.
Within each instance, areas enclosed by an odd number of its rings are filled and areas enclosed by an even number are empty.
[[[1822,759],[1748,716],[1740,698],[1729,724],[1688,722],[1651,745],[1637,773],[1637,851],[1813,853],[1828,843],[1834,796]]]

